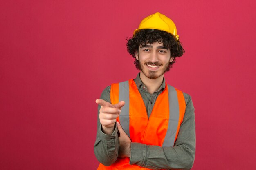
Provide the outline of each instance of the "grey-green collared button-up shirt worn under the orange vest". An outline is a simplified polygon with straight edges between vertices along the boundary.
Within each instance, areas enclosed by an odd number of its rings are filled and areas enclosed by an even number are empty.
[[[160,88],[152,95],[141,82],[139,74],[134,79],[146,106],[148,117],[152,112],[155,101],[165,88],[165,79]],[[101,94],[101,99],[110,102],[110,88],[108,86]],[[141,143],[131,143],[130,164],[136,164],[150,169],[191,169],[195,158],[195,113],[191,97],[183,93],[186,102],[186,112],[180,126],[177,140],[173,147],[161,147]],[[98,106],[98,130],[94,144],[94,153],[98,161],[106,166],[114,163],[118,157],[118,134],[115,127],[111,135],[106,135],[101,130],[99,122]]]

